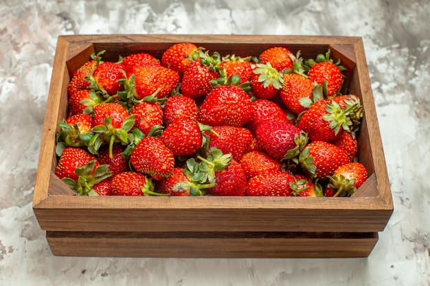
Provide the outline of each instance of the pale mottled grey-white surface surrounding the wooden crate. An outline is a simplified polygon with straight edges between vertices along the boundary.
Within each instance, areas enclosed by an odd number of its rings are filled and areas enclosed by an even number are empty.
[[[426,0],[0,1],[0,285],[430,285],[429,13]],[[363,37],[394,198],[370,257],[52,256],[32,192],[60,34]]]

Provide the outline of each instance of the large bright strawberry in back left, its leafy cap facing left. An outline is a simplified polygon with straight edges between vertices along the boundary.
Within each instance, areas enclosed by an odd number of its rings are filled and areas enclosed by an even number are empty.
[[[135,68],[133,74],[128,81],[131,93],[138,100],[150,95],[157,99],[167,97],[179,84],[179,74],[167,67],[146,65]]]

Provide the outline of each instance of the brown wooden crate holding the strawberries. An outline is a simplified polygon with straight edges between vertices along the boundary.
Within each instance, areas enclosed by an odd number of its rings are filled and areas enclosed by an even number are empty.
[[[359,161],[370,178],[351,198],[86,197],[56,177],[56,124],[66,117],[67,84],[91,53],[104,60],[146,52],[157,58],[191,42],[222,56],[258,56],[284,46],[304,59],[331,51],[343,93],[359,95],[365,117]],[[99,35],[59,36],[34,188],[34,213],[54,255],[96,257],[366,257],[392,214],[392,195],[359,37]]]

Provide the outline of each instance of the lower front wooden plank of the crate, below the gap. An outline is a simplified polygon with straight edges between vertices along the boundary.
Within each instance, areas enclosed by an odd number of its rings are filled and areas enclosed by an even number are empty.
[[[54,255],[78,257],[367,257],[377,233],[47,232]]]

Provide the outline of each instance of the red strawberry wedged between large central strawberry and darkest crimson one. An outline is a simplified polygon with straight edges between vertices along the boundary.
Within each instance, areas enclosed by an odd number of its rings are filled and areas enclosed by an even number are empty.
[[[255,133],[258,125],[263,121],[288,121],[284,110],[267,99],[256,99],[252,102],[253,116],[247,123],[247,128]]]

